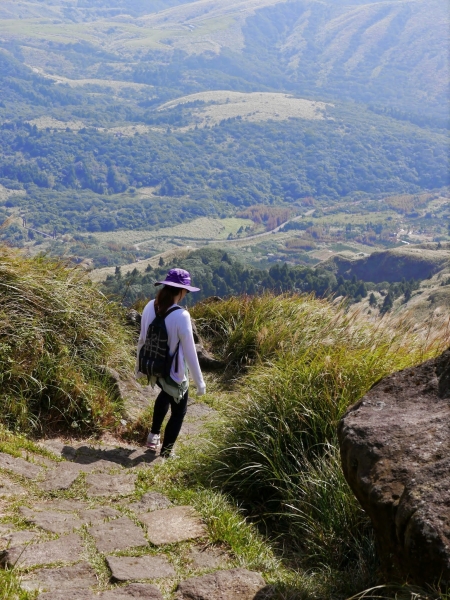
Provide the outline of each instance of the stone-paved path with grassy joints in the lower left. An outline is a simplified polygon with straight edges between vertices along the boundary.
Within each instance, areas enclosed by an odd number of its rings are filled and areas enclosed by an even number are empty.
[[[184,435],[211,409],[198,404]],[[190,506],[140,491],[162,459],[145,448],[42,442],[53,458],[0,453],[0,555],[40,600],[256,600],[259,573],[233,568]]]

